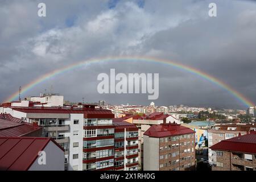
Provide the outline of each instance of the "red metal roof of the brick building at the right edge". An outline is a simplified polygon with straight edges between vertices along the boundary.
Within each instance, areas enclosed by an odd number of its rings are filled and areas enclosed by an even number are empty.
[[[250,134],[222,140],[209,148],[256,154],[256,133],[251,132]]]

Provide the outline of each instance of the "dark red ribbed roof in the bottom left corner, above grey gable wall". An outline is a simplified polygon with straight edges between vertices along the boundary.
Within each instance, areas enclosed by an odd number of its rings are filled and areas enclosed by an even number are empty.
[[[51,138],[0,137],[0,170],[28,170],[38,158],[38,152],[42,151],[49,141],[60,147]]]

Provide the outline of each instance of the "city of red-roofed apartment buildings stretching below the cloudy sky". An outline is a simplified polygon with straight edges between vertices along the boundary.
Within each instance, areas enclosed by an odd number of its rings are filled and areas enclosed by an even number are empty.
[[[256,107],[66,102],[41,93],[1,104],[1,170],[255,170]]]

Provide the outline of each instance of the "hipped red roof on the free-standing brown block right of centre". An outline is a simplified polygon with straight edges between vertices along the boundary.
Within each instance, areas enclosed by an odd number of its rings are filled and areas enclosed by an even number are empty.
[[[144,135],[155,138],[170,137],[174,135],[184,135],[195,133],[195,131],[189,129],[188,127],[181,126],[175,123],[153,125],[151,126]]]

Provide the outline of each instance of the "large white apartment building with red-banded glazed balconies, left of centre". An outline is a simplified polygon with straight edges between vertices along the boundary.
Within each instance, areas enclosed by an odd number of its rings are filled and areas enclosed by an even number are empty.
[[[55,139],[64,148],[65,170],[108,169],[109,164],[106,164],[111,161],[104,157],[105,154],[101,156],[98,152],[104,162],[101,162],[101,159],[97,159],[97,162],[89,160],[87,157],[89,154],[86,147],[89,145],[97,147],[94,151],[103,150],[101,147],[110,144],[114,147],[114,115],[110,110],[96,109],[95,106],[3,106],[3,111],[27,123],[42,126],[43,137]]]

